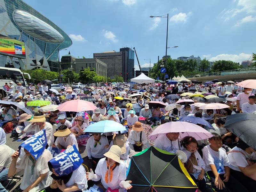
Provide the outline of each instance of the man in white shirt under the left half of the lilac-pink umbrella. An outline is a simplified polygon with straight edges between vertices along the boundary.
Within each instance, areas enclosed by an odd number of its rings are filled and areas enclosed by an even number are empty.
[[[176,154],[178,150],[183,150],[184,147],[180,145],[178,140],[180,133],[166,133],[156,138],[155,147],[165,150],[167,152]]]

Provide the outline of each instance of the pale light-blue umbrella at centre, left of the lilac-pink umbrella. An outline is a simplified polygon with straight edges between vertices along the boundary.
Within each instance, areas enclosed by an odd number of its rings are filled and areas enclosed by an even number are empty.
[[[107,133],[116,131],[126,131],[126,128],[115,121],[105,120],[89,125],[84,132]]]

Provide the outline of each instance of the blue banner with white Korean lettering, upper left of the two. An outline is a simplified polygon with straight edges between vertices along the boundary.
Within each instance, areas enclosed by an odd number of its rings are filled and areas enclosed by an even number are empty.
[[[38,159],[44,152],[47,145],[45,129],[37,132],[19,146],[25,148],[35,159]]]

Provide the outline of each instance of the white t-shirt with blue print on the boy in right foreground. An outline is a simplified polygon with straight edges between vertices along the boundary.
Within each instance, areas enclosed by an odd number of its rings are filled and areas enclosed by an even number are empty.
[[[205,171],[212,171],[210,164],[214,164],[219,174],[225,174],[225,166],[229,166],[228,156],[224,150],[214,151],[210,145],[203,148]]]

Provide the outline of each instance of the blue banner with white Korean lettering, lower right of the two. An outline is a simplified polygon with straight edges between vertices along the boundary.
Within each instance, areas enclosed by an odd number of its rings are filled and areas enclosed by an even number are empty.
[[[75,171],[84,160],[80,156],[76,145],[73,145],[53,157],[49,162],[52,164],[54,171],[61,176]]]

